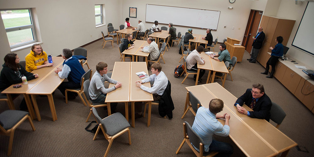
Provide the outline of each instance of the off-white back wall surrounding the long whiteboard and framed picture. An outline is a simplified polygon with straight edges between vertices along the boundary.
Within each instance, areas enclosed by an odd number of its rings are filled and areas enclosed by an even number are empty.
[[[123,0],[123,4],[122,4],[123,18],[122,18],[121,23],[124,23],[124,19],[129,17],[129,7],[136,7],[138,9],[137,18],[130,18],[130,23],[132,24],[132,26],[137,27],[138,20],[141,19],[147,29],[151,28],[153,23],[145,22],[146,4],[217,10],[217,11],[220,11],[220,17],[219,17],[217,30],[212,31],[214,40],[218,36],[218,42],[223,42],[224,38],[227,38],[228,36],[228,37],[236,38],[242,41],[252,3],[254,3],[254,1],[252,0],[236,0],[236,2],[233,4],[229,3],[228,0],[224,0],[224,1],[221,1],[221,0],[219,1],[218,0],[198,0],[198,1],[190,1],[190,0],[128,1],[128,0]],[[228,7],[233,7],[233,9],[228,9]],[[173,13],[173,14],[178,14],[178,13]],[[178,14],[178,16],[182,16],[181,14],[182,13]],[[171,21],[169,21],[169,23],[170,22]],[[227,27],[224,27],[225,25]],[[159,24],[159,28],[161,26],[168,27],[168,24]],[[181,32],[182,34],[185,34],[185,32],[187,32],[187,29],[189,28],[189,27],[177,26],[175,23],[174,23],[174,27],[177,28],[176,30],[177,33]],[[235,27],[235,29],[232,30],[232,27]],[[198,28],[192,28],[192,29],[193,29],[193,33],[195,34],[206,35],[206,29],[198,29]]]

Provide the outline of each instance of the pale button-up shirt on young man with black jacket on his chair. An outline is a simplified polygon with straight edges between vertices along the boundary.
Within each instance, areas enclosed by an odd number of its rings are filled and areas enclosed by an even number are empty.
[[[165,73],[161,71],[157,76],[156,74],[152,74],[148,78],[145,78],[142,80],[143,83],[153,82],[153,81],[154,81],[153,87],[149,88],[142,85],[141,89],[151,94],[155,94],[155,93],[158,95],[164,94],[164,91],[168,84],[168,78],[165,75]]]

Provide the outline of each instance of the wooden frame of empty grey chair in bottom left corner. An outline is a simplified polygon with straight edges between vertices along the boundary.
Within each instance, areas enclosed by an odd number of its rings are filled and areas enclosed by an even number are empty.
[[[30,115],[27,114],[25,115],[18,123],[16,123],[11,129],[5,130],[1,125],[0,125],[0,134],[10,136],[9,140],[9,148],[8,148],[8,156],[11,155],[12,153],[12,146],[13,146],[13,137],[14,137],[14,131],[15,129],[24,122],[24,120],[28,119],[30,121],[30,126],[32,127],[33,131],[35,131],[35,126],[33,124],[33,121],[30,118]]]

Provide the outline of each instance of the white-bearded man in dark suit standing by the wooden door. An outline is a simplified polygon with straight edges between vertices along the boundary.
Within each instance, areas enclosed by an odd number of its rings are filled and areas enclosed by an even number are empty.
[[[259,49],[261,49],[263,41],[265,39],[265,33],[263,32],[263,27],[258,27],[258,32],[257,35],[253,36],[253,44],[252,44],[252,52],[251,52],[251,58],[250,59],[246,59],[248,60],[250,63],[255,63],[256,62],[256,58],[259,52]]]

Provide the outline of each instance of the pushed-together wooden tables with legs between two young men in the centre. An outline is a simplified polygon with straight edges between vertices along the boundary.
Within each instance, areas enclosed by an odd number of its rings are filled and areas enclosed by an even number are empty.
[[[122,73],[123,71],[123,73]],[[135,127],[134,117],[134,103],[139,101],[149,102],[149,111],[151,109],[151,101],[153,95],[137,87],[135,82],[142,80],[135,74],[137,72],[147,71],[145,62],[115,62],[111,78],[122,83],[122,87],[110,92],[106,96],[105,102],[108,103],[108,115],[111,115],[110,103],[111,102],[125,102],[126,119],[128,120],[128,106],[127,102],[132,102],[132,127]],[[115,84],[110,84],[113,87]],[[144,86],[150,87],[150,83],[144,83]],[[150,125],[150,114],[148,116],[147,127]]]

